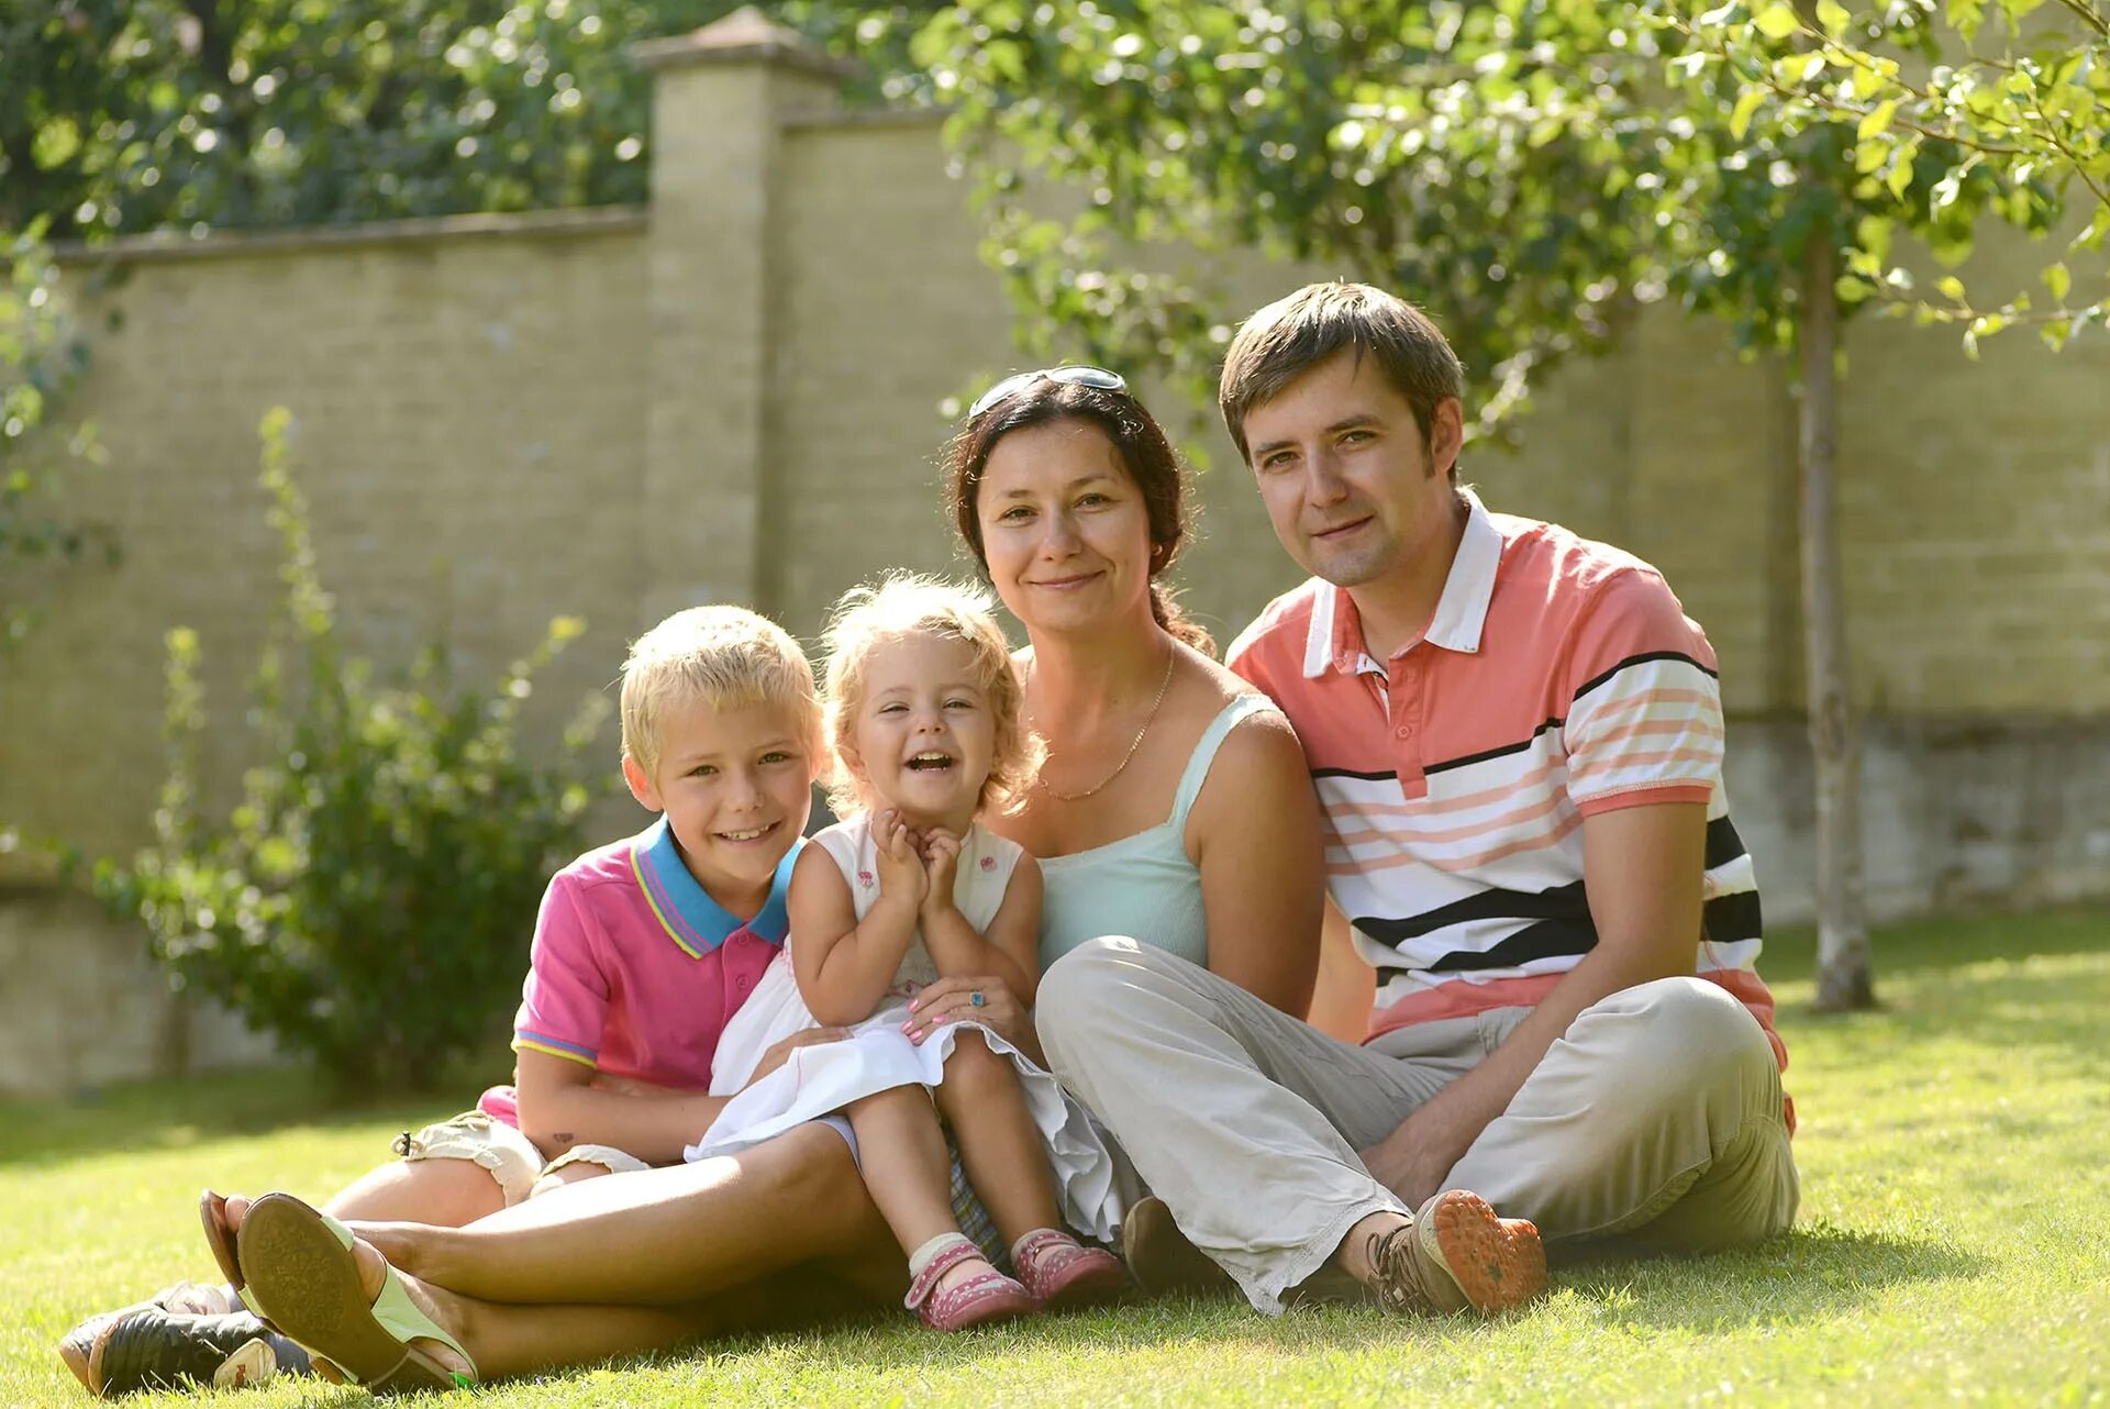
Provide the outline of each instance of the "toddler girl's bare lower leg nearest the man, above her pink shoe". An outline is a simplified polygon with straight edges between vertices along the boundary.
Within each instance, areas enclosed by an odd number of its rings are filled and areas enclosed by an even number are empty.
[[[966,1181],[1004,1242],[1015,1244],[1036,1228],[1061,1228],[1055,1173],[1011,1059],[992,1053],[979,1031],[962,1031],[933,1095],[960,1143]]]

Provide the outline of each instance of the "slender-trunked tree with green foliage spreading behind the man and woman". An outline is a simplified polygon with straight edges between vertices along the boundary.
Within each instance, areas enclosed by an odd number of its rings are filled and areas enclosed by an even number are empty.
[[[1933,0],[998,0],[935,19],[916,57],[958,105],[950,137],[1030,346],[1205,386],[1230,329],[1201,266],[1165,253],[1188,240],[1441,289],[1460,354],[1492,373],[1481,435],[1559,356],[1601,348],[1627,302],[1675,295],[1745,352],[1800,359],[1819,1000],[1859,1006],[1874,989],[1829,489],[1838,325],[1876,308],[1960,321],[1967,340],[2011,327],[2021,295],[1983,308],[1948,276],[1926,300],[1893,236],[1956,262],[1988,211],[2049,230],[2070,186],[2110,186],[2102,15],[2066,0],[2064,27],[2026,25],[2036,8],[2000,0],[2007,42],[1981,44],[1977,0],[1948,17]],[[1038,213],[1025,173],[1078,186],[1085,209]],[[2102,238],[2097,217],[2072,249]],[[2102,323],[2102,304],[2066,306],[2064,262],[2045,285],[2049,340]]]

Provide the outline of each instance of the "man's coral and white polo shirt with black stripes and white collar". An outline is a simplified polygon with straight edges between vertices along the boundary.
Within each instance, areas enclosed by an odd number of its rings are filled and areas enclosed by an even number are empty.
[[[1230,648],[1304,740],[1327,890],[1378,970],[1369,1036],[1536,1004],[1597,943],[1582,818],[1703,802],[1694,972],[1758,1017],[1785,1067],[1722,789],[1713,648],[1637,557],[1462,498],[1443,597],[1390,660],[1367,656],[1348,593],[1317,578]]]

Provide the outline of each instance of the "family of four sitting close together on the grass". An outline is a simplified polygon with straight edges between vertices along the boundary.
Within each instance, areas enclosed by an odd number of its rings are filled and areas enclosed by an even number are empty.
[[[1224,420],[1312,578],[1217,664],[1158,584],[1158,424],[1097,367],[998,382],[947,498],[1030,645],[895,578],[821,702],[751,612],[654,626],[622,774],[660,818],[551,882],[515,1086],[325,1211],[205,1194],[226,1285],[65,1365],[418,1390],[1131,1278],[1494,1314],[1549,1244],[1783,1232],[1713,650],[1648,563],[1456,483],[1460,392],[1363,285],[1245,323]],[[817,778],[844,821],[802,842]]]

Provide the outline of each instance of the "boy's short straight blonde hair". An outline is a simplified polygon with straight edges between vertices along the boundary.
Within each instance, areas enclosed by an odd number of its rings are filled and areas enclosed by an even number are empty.
[[[622,755],[654,774],[660,721],[679,704],[779,704],[800,740],[821,753],[821,700],[812,664],[783,626],[747,607],[688,607],[631,641],[622,662]]]

